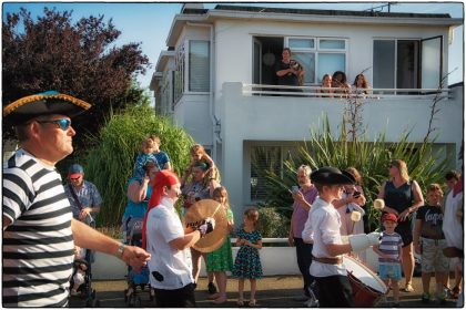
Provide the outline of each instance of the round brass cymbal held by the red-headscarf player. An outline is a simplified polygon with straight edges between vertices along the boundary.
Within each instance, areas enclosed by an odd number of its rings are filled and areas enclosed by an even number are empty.
[[[216,250],[229,235],[226,211],[219,202],[213,199],[202,199],[193,204],[184,215],[183,226],[186,227],[186,224],[201,221],[207,217],[215,219],[215,228],[193,246],[200,252]]]

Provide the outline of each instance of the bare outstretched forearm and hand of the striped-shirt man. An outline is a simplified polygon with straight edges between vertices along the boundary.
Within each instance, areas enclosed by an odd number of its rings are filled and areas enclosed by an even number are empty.
[[[122,245],[120,241],[97,231],[79,220],[71,220],[71,229],[77,246],[116,256],[136,270],[145,266],[146,261],[151,259],[151,255],[139,247],[124,246],[123,254],[119,254]]]

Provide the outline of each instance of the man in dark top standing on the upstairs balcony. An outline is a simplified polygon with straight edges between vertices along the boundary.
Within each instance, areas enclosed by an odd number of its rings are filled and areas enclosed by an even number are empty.
[[[290,48],[284,48],[282,52],[282,60],[275,64],[275,74],[277,76],[277,84],[284,86],[300,86],[300,79],[304,76],[304,69],[301,64],[291,59]],[[281,92],[301,92],[300,89],[280,90]]]

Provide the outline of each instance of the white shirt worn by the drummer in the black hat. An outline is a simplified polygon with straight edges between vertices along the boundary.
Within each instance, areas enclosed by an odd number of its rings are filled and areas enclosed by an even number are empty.
[[[310,211],[310,226],[307,232],[312,236],[314,246],[312,255],[314,257],[328,257],[332,256],[327,252],[325,245],[342,245],[342,236],[340,235],[340,215],[332,204],[326,203],[320,197],[314,202]],[[306,223],[307,225],[307,223]],[[306,230],[306,229],[305,229]],[[308,239],[308,237],[306,237]],[[303,239],[304,232],[303,232]],[[330,265],[313,260],[311,264],[310,272],[314,277],[330,277],[330,276],[346,276],[346,269],[343,264]]]

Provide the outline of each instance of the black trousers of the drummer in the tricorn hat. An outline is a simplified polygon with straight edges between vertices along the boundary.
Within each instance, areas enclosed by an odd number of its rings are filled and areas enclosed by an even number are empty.
[[[354,307],[353,290],[346,276],[315,277],[318,306],[323,308]]]

